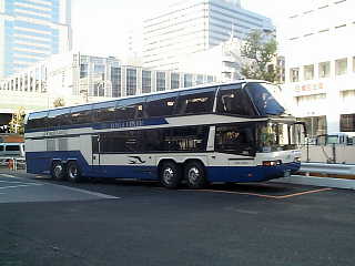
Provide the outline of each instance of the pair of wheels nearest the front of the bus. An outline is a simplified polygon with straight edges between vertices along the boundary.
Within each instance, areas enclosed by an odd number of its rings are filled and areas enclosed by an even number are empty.
[[[183,167],[172,161],[164,162],[159,175],[166,188],[176,188],[183,178],[190,188],[203,188],[207,184],[205,167],[199,161],[187,162]]]

